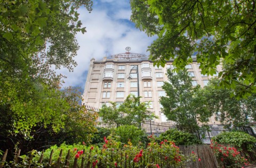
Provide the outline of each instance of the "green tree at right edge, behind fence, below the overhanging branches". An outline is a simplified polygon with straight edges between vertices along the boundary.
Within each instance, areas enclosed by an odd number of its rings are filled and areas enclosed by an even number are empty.
[[[208,86],[205,86],[198,95],[206,100],[205,105],[211,109],[212,115],[216,115],[225,125],[247,126],[249,118],[256,120],[256,99],[252,94],[247,99],[230,97],[231,90],[216,88],[219,80],[212,78]]]

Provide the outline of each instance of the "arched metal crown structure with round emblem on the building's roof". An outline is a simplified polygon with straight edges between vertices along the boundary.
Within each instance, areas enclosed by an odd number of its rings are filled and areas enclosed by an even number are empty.
[[[125,53],[118,53],[118,54],[115,54],[115,55],[111,55],[111,57],[112,58],[118,58],[119,60],[147,59],[147,56],[145,54],[129,52],[131,50],[131,47],[126,47],[125,50],[126,50]]]

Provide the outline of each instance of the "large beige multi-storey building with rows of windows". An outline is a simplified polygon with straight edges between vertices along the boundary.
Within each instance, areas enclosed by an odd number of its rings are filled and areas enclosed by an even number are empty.
[[[126,47],[127,48],[127,47]],[[128,47],[129,48],[129,47]],[[112,55],[110,59],[103,58],[101,61],[91,60],[86,85],[83,92],[82,104],[95,108],[101,108],[102,104],[109,105],[109,102],[122,103],[129,94],[139,96],[141,102],[150,102],[148,110],[155,113],[159,119],[157,122],[167,121],[161,113],[160,97],[165,96],[162,89],[164,81],[167,81],[167,69],[173,69],[173,60],[167,61],[165,67],[153,66],[153,62],[148,61],[146,55],[125,53]],[[193,77],[193,85],[204,87],[211,76],[201,74],[196,58],[193,63],[186,66],[188,73]],[[138,77],[136,69],[138,67]],[[217,67],[218,71],[221,67]],[[131,75],[132,79],[128,79]],[[218,74],[217,74],[218,76]],[[138,85],[139,81],[139,85]],[[220,124],[215,120],[215,116],[210,118],[209,125]]]

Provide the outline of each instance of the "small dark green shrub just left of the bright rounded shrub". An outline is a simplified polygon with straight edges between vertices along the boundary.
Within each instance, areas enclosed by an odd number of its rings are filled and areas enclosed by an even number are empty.
[[[111,129],[109,128],[97,128],[97,132],[94,133],[92,137],[91,144],[97,144],[101,146],[104,143],[103,138],[108,137],[111,134]]]

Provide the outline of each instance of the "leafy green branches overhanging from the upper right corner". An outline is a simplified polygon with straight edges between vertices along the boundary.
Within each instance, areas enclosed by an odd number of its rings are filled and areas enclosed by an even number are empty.
[[[136,27],[158,36],[148,47],[154,65],[174,59],[184,69],[196,54],[202,74],[215,74],[223,62],[218,86],[237,97],[256,92],[255,1],[131,0],[131,8]]]

